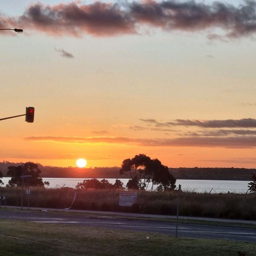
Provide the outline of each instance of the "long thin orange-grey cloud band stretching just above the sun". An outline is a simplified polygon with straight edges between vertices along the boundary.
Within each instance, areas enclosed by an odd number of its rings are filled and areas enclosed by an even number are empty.
[[[174,139],[148,139],[126,137],[27,137],[28,141],[51,141],[64,143],[110,143],[132,146],[175,146],[175,147],[210,147],[210,148],[256,148],[256,136],[233,137],[181,137]]]

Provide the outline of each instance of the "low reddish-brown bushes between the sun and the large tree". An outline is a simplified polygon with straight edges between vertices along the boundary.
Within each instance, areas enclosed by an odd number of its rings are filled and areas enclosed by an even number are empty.
[[[114,184],[111,184],[108,182],[108,180],[97,180],[97,179],[90,179],[90,180],[84,180],[83,182],[78,182],[76,185],[76,189],[113,189],[113,190],[122,190],[123,182],[116,179],[116,182]]]

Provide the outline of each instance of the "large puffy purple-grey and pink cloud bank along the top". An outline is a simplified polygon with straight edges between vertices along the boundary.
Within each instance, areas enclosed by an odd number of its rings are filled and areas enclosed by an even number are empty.
[[[80,1],[46,5],[30,4],[23,15],[0,17],[0,25],[20,26],[51,36],[115,36],[138,34],[141,26],[165,31],[198,32],[219,28],[224,35],[211,33],[208,38],[225,40],[252,36],[256,32],[256,1],[245,0],[234,6],[224,2],[167,0],[156,2],[93,2]]]

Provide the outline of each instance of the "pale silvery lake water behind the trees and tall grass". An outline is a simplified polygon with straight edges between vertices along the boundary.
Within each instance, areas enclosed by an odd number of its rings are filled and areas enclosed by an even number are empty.
[[[50,182],[49,188],[61,188],[65,187],[75,188],[78,182],[82,182],[86,178],[43,178],[43,181]],[[4,186],[8,183],[10,178],[2,178]],[[102,180],[102,179],[98,179]],[[106,179],[110,183],[114,184],[116,179]],[[129,179],[120,179],[124,186],[127,184]],[[183,191],[199,192],[199,193],[209,193],[213,188],[211,193],[238,193],[244,194],[248,190],[248,183],[250,181],[244,180],[177,180],[176,186],[181,185]]]

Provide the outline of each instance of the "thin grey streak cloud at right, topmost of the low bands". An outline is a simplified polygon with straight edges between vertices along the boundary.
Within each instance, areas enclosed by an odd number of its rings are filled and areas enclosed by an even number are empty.
[[[256,119],[228,119],[228,120],[189,120],[176,119],[170,122],[158,122],[155,119],[140,119],[143,122],[154,124],[157,127],[166,126],[198,126],[203,128],[256,128]]]

